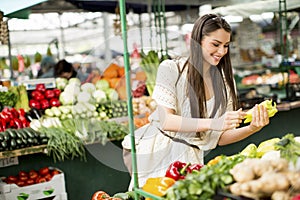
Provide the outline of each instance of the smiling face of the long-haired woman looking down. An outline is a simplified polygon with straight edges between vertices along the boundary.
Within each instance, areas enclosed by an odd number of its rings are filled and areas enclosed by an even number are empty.
[[[221,58],[228,52],[230,33],[218,29],[203,37],[201,45],[204,65],[217,65]]]

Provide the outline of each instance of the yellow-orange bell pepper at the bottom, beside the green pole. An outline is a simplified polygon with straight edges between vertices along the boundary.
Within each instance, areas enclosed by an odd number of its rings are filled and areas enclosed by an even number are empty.
[[[142,189],[145,192],[162,197],[174,183],[175,180],[169,177],[148,178]],[[146,200],[150,200],[150,198],[146,198]]]

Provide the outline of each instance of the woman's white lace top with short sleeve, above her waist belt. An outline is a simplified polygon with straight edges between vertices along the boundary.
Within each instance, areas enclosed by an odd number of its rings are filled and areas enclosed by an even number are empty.
[[[186,59],[180,59],[179,67],[182,67]],[[186,96],[187,87],[187,67],[182,71],[180,78],[175,86],[178,79],[179,71],[177,64],[173,60],[165,60],[160,64],[158,69],[156,85],[153,91],[152,98],[156,100],[157,104],[165,106],[167,108],[175,110],[177,115],[183,117],[191,117],[190,112],[190,101]],[[227,91],[229,88],[227,87]],[[227,95],[230,97],[230,95]],[[214,97],[207,102],[208,113],[212,112],[214,106]],[[227,110],[232,110],[232,100],[228,101]],[[216,114],[218,116],[218,113]],[[151,120],[159,120],[158,115],[154,112],[150,117]],[[196,137],[196,133],[174,133],[169,132],[173,137],[185,139],[188,143],[199,146],[202,150],[209,150],[216,147],[219,137],[222,132],[220,131],[207,131],[204,138],[200,139]]]

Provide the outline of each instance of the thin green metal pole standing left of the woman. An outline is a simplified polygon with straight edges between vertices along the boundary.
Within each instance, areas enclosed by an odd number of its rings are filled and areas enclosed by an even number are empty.
[[[127,30],[126,30],[126,7],[125,0],[119,0],[120,4],[120,16],[121,16],[121,28],[122,38],[124,45],[124,65],[125,65],[125,78],[126,78],[126,92],[127,92],[127,106],[128,106],[128,118],[129,118],[129,130],[131,138],[131,155],[132,155],[132,176],[134,179],[134,188],[139,187],[137,177],[137,163],[136,163],[136,152],[135,152],[135,139],[134,139],[134,121],[133,121],[133,109],[132,109],[132,94],[131,94],[131,83],[130,83],[130,65],[129,65],[129,53],[127,47]],[[138,194],[135,192],[135,199],[138,199]]]

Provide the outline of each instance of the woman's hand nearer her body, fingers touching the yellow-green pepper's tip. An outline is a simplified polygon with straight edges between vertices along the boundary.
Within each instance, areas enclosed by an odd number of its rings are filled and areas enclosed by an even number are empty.
[[[245,115],[246,113],[242,109],[227,111],[220,118],[212,119],[210,128],[215,131],[234,129],[240,125]]]

